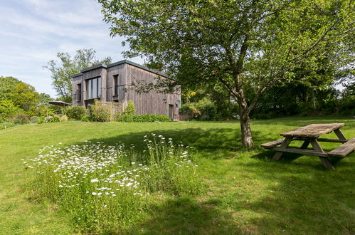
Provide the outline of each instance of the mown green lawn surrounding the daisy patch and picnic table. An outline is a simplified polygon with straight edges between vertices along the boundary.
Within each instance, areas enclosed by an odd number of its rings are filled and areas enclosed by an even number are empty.
[[[355,120],[297,117],[252,122],[255,148],[240,145],[238,122],[91,123],[21,125],[0,130],[1,234],[73,234],[73,221],[51,202],[33,199],[21,159],[46,145],[133,143],[154,132],[194,146],[203,192],[198,197],[157,195],[139,224],[124,234],[354,234],[355,153],[324,169],[317,157],[284,155],[259,147],[280,132],[310,123],[345,122],[355,137]],[[330,134],[329,137],[335,137]],[[325,150],[337,143],[321,143]],[[30,174],[31,175],[31,174]]]

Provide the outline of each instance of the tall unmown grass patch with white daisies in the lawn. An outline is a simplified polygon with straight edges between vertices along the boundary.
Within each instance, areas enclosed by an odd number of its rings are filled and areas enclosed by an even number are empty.
[[[46,146],[23,163],[36,172],[30,187],[39,199],[68,211],[80,229],[112,232],[136,221],[154,192],[178,196],[199,191],[191,147],[155,134],[144,136],[144,142],[143,152],[134,145],[102,142]]]

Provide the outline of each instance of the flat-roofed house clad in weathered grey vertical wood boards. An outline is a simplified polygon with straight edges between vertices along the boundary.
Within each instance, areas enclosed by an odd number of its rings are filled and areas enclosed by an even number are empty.
[[[131,100],[137,115],[159,114],[179,120],[180,88],[174,89],[174,93],[157,90],[137,93],[132,85],[142,83],[142,80],[144,83],[155,83],[157,77],[170,79],[164,73],[127,60],[85,68],[72,76],[73,105],[85,105],[88,108],[94,100],[100,100],[102,103],[117,102],[127,106]]]

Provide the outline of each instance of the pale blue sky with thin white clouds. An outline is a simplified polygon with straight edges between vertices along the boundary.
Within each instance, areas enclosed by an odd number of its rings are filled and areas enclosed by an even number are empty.
[[[110,37],[100,11],[95,0],[0,0],[0,76],[18,78],[54,98],[51,73],[43,66],[57,60],[58,52],[93,48],[98,59],[124,59],[121,53],[128,48],[121,46],[122,38]]]

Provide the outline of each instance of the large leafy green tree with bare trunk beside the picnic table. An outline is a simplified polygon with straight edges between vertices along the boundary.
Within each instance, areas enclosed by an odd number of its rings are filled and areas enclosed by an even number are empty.
[[[164,64],[180,84],[221,83],[238,101],[247,147],[250,111],[265,89],[299,68],[341,68],[354,56],[351,0],[98,1],[111,35],[126,37],[126,56]]]

